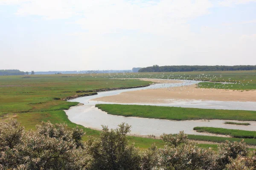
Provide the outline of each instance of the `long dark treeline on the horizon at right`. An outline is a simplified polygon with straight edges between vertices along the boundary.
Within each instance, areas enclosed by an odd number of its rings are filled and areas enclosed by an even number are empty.
[[[256,65],[166,65],[141,68],[139,72],[177,72],[177,71],[236,71],[256,70]]]

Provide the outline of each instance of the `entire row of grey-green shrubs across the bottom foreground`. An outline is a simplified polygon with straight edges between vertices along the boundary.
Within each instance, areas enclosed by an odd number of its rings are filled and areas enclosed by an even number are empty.
[[[166,143],[140,151],[128,144],[130,126],[102,126],[99,138],[81,141],[83,130],[42,122],[25,131],[17,120],[0,122],[0,169],[17,170],[255,170],[256,153],[246,144],[220,144],[218,152],[199,148],[186,134],[163,134]]]

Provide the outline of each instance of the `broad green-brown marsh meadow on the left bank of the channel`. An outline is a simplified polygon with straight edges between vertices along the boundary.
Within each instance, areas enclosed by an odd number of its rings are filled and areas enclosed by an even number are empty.
[[[78,103],[61,99],[93,94],[83,91],[150,84],[140,80],[113,80],[97,76],[97,74],[0,76],[0,116],[11,113],[27,129],[34,128],[42,120],[51,120],[53,123],[66,122],[73,127],[75,124],[73,125],[66,118],[63,110]]]

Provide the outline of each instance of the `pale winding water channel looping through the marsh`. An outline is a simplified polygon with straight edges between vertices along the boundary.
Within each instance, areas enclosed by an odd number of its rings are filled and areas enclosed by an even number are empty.
[[[137,91],[150,88],[171,88],[183,85],[192,85],[198,83],[198,81],[183,80],[182,83],[163,83],[150,85],[144,88],[132,88],[123,89],[116,91],[105,91],[99,92],[94,96],[84,96],[76,99],[69,100],[70,102],[80,102],[84,105],[71,107],[65,111],[68,119],[84,127],[91,129],[101,130],[101,125],[108,125],[110,128],[116,128],[122,122],[126,122],[131,125],[131,134],[146,136],[155,135],[160,136],[162,133],[178,133],[180,130],[184,130],[187,134],[199,134],[199,135],[210,135],[204,133],[198,133],[193,130],[196,126],[206,127],[222,127],[227,129],[241,129],[241,130],[256,130],[256,122],[249,122],[249,126],[238,126],[223,124],[226,120],[186,120],[186,121],[173,121],[163,119],[148,119],[148,118],[137,118],[137,117],[124,117],[109,115],[104,111],[95,108],[96,104],[121,104],[121,103],[110,103],[92,101],[90,99],[96,99],[103,96],[112,96],[120,94],[126,91]],[[122,103],[125,104],[125,103]],[[184,108],[210,108],[210,109],[228,109],[228,110],[249,110],[256,111],[256,102],[222,102],[222,101],[201,101],[201,100],[174,100],[169,103],[129,103],[128,105],[156,105],[156,106],[176,106]],[[242,121],[233,121],[242,122]]]

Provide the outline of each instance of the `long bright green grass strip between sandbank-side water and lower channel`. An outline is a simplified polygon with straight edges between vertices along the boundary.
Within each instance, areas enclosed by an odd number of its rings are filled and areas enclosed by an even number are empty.
[[[256,111],[180,108],[148,105],[96,105],[108,114],[169,120],[225,119],[256,121]]]

